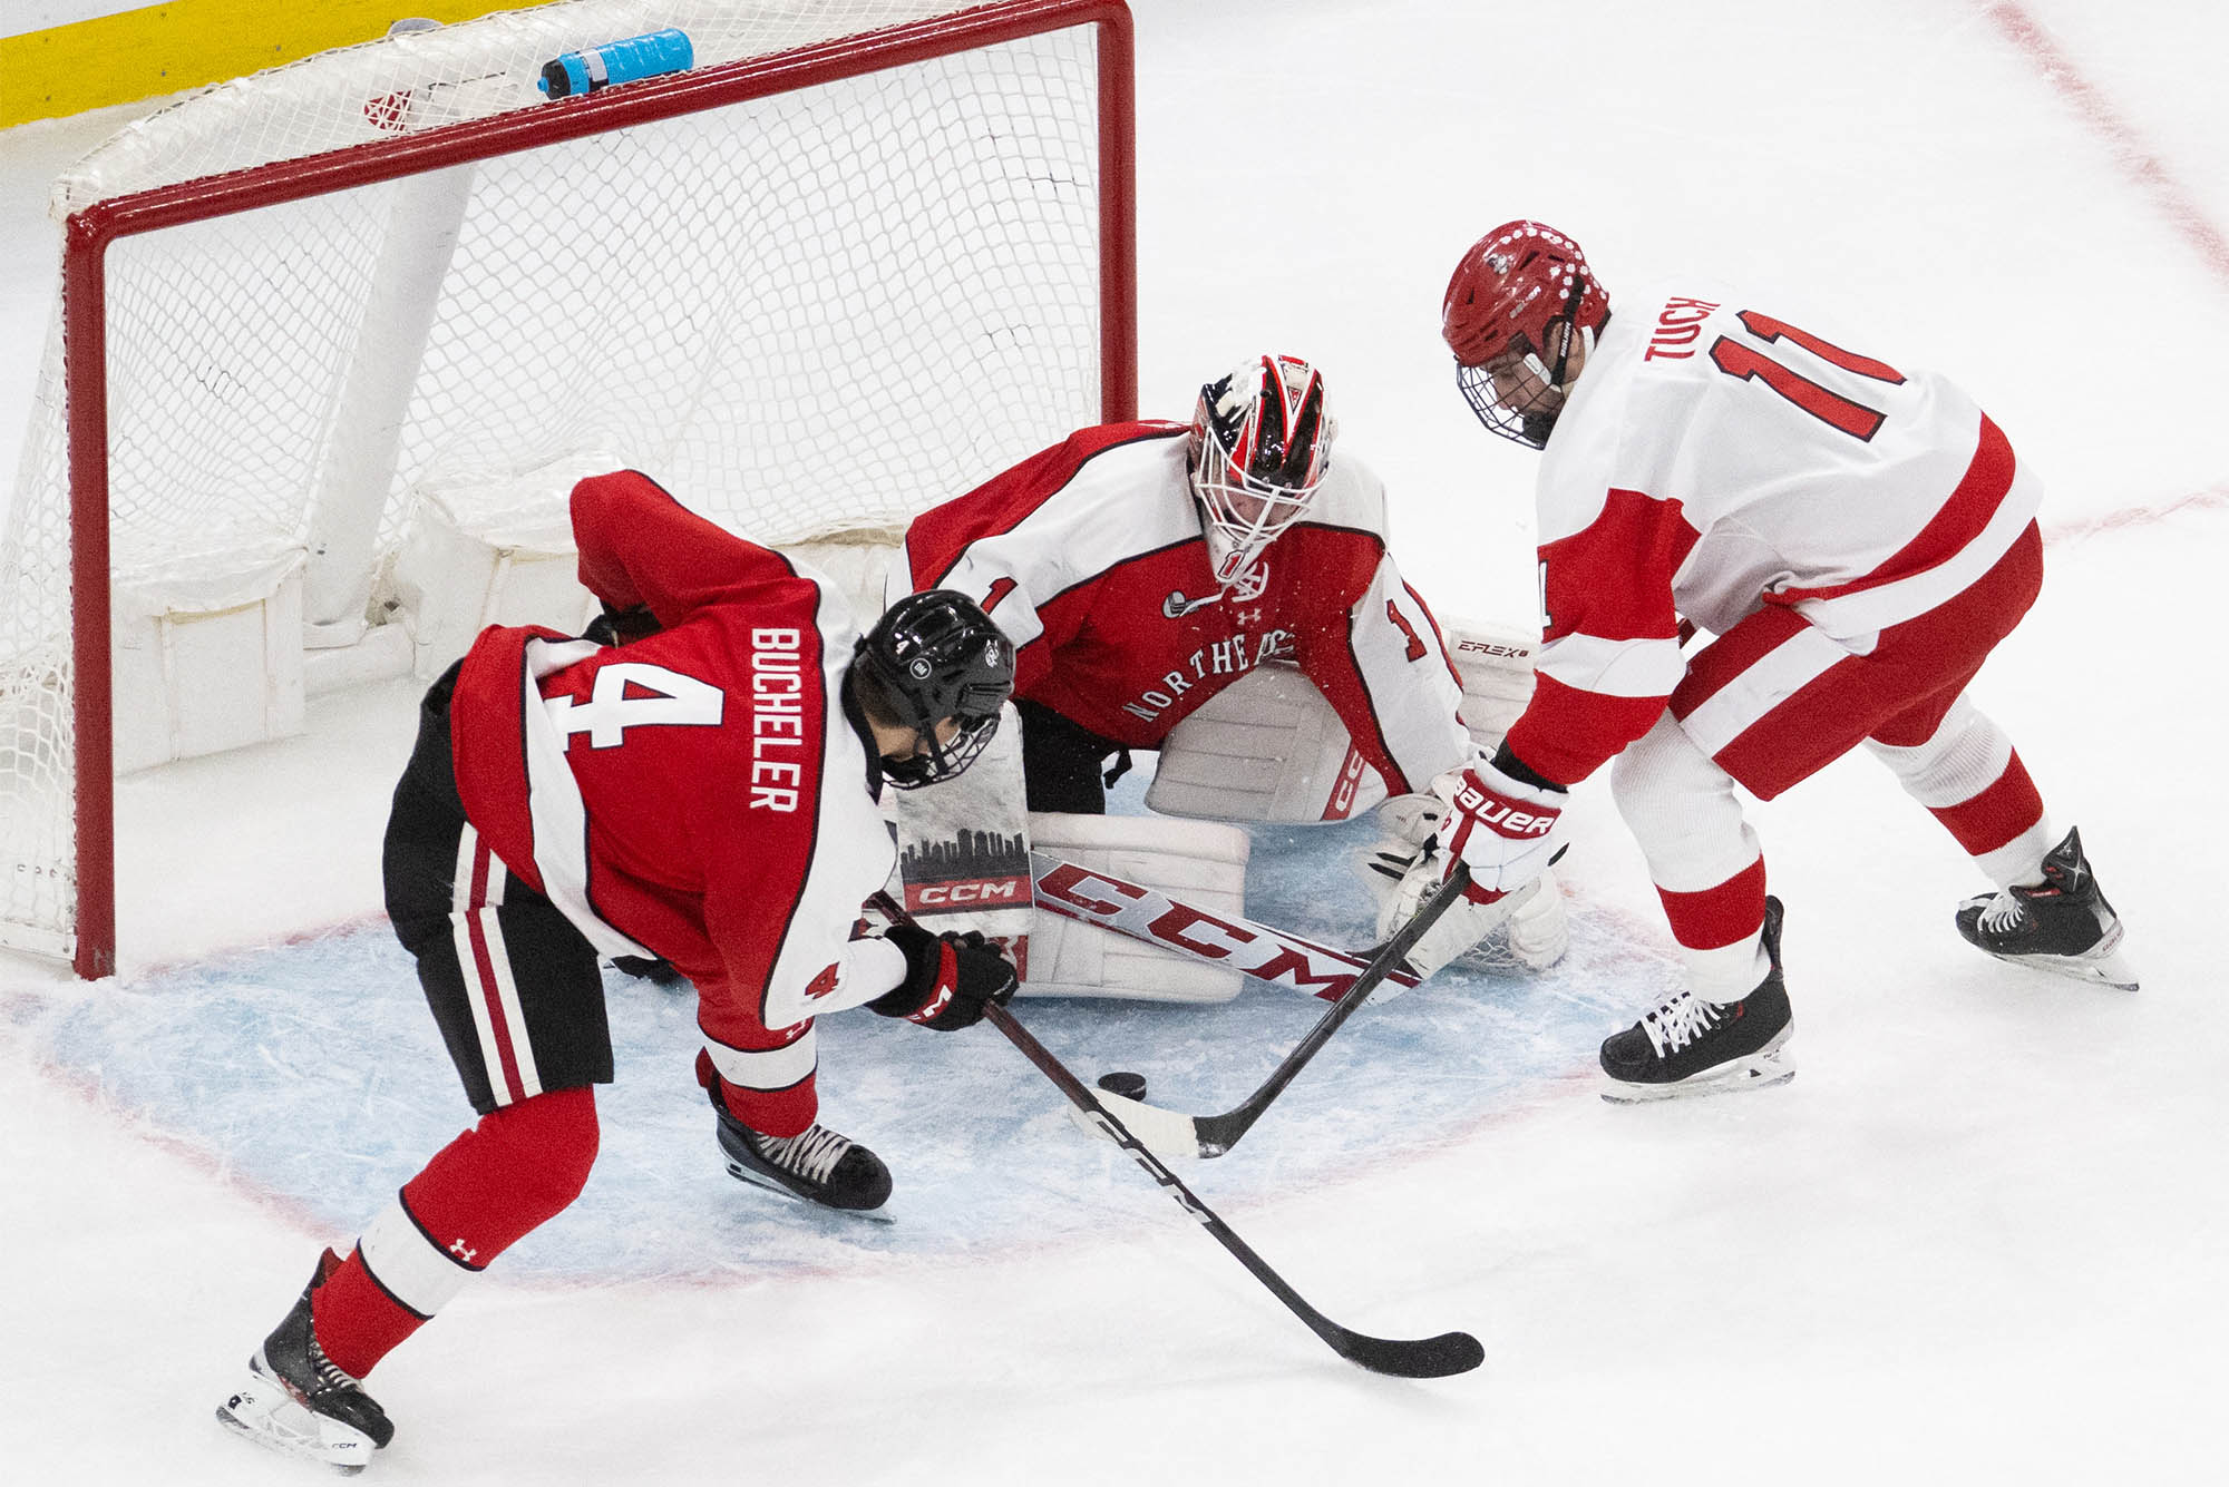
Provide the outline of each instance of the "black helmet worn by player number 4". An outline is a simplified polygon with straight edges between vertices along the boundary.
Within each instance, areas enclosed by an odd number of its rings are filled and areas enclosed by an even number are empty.
[[[883,759],[883,775],[901,790],[952,779],[974,764],[1014,692],[1014,648],[972,599],[945,588],[889,605],[858,643],[851,668],[865,668],[885,710],[921,735],[923,752]],[[936,723],[947,717],[958,732],[938,741]]]

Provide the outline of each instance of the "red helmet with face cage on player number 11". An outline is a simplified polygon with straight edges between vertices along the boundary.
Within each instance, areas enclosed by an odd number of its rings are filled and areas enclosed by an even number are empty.
[[[1609,323],[1609,296],[1578,243],[1542,223],[1502,223],[1462,254],[1447,283],[1440,334],[1456,385],[1502,439],[1542,447],[1580,361]]]

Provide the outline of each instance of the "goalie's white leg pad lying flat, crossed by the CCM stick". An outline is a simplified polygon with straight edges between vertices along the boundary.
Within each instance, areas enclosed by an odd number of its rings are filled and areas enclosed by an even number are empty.
[[[1152,817],[1030,813],[1041,853],[1159,888],[1195,908],[1246,913],[1246,853],[1237,826]],[[1228,1002],[1246,977],[1172,951],[1081,924],[1043,908],[1030,922],[1023,997],[1126,997],[1132,1002]]]

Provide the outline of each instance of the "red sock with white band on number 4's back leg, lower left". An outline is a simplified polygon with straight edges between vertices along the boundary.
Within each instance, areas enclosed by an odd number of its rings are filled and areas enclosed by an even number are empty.
[[[457,1135],[312,1293],[325,1356],[363,1378],[473,1273],[564,1211],[588,1180],[595,1149],[588,1089],[506,1104]]]

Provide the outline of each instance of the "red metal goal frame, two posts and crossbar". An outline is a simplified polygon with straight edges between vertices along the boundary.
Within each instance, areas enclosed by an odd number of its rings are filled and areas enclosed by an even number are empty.
[[[109,630],[107,249],[183,223],[379,185],[470,160],[907,67],[1045,31],[1097,27],[1099,412],[1137,416],[1135,29],[1123,0],[1001,0],[791,51],[461,120],[299,160],[94,203],[62,223],[62,383],[69,398],[69,608],[74,663],[76,946],[85,979],[116,973],[116,770]]]

